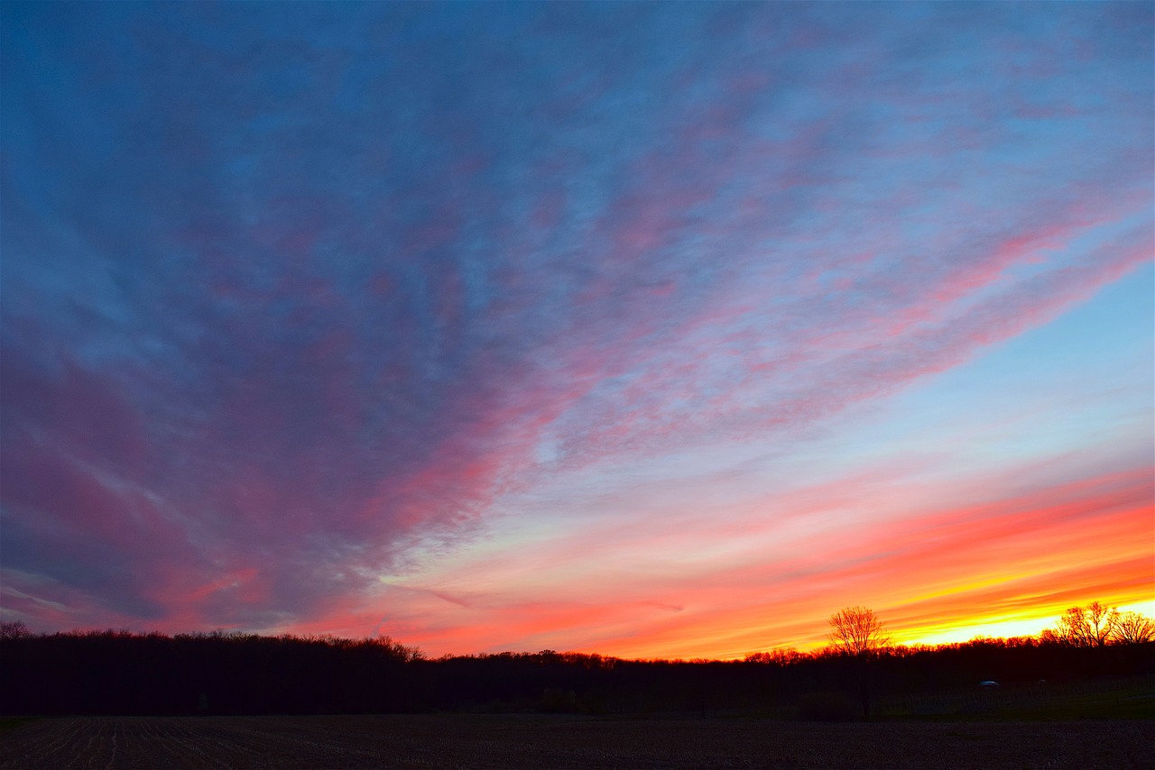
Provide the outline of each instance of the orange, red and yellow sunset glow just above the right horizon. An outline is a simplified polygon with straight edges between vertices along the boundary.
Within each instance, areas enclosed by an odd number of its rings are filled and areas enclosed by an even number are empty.
[[[793,517],[778,510],[755,521],[738,507],[705,530],[683,522],[657,538],[608,521],[604,530],[542,538],[517,551],[480,548],[455,569],[437,570],[434,584],[383,580],[385,625],[433,657],[554,649],[735,659],[775,648],[819,649],[827,619],[850,605],[872,607],[903,644],[1037,635],[1067,607],[1094,600],[1145,614],[1155,608],[1155,509],[1146,470],[975,504],[912,508],[885,525],[843,521],[832,532],[798,523],[854,494],[844,485],[800,491]],[[736,546],[731,530],[743,523],[746,544]],[[775,533],[789,543],[767,554]],[[640,553],[635,538],[647,534],[648,558],[623,567],[617,551]],[[716,551],[723,547],[725,561]]]

